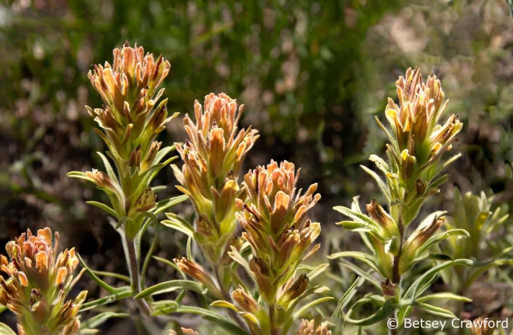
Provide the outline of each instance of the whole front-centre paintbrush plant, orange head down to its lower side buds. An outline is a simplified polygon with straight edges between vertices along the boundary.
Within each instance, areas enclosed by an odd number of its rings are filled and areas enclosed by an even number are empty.
[[[287,161],[272,161],[250,170],[243,181],[247,202],[236,199],[236,214],[244,230],[242,238],[251,246],[249,263],[232,246],[228,254],[244,265],[255,282],[259,301],[242,286],[233,290],[231,302],[216,301],[212,306],[238,312],[251,334],[286,333],[292,324],[293,309],[306,296],[310,279],[296,269],[320,245],[307,249],[321,233],[318,222],[311,222],[307,212],[319,201],[317,184],[305,193],[296,189],[300,170]],[[306,331],[306,330],[305,330]],[[323,332],[324,333],[324,332]]]

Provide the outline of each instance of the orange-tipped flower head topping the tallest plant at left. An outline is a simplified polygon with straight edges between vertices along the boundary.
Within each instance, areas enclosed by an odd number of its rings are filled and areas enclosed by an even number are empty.
[[[157,88],[168,75],[171,64],[162,55],[155,61],[153,54],[144,54],[143,47],[132,48],[128,43],[114,49],[113,54],[112,65],[108,62],[105,66],[94,65],[94,70],[88,73],[105,105],[94,109],[86,106],[86,109],[103,128],[105,133],[98,132],[98,135],[109,146],[114,160],[144,171],[159,151],[161,143],[154,141],[156,135],[172,118],[167,117],[167,99],[155,107],[164,92],[164,88],[158,92]]]

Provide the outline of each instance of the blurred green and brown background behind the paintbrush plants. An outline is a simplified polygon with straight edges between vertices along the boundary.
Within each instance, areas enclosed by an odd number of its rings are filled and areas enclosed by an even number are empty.
[[[102,166],[95,152],[104,143],[84,110],[101,100],[87,72],[110,62],[112,49],[125,41],[171,62],[164,96],[181,117],[161,135],[164,143],[185,139],[181,120],[194,99],[224,91],[246,105],[242,124],[261,133],[246,169],[287,159],[301,166],[303,186],[319,183],[323,198],[313,214],[324,231],[319,262],[359,243],[334,225],[340,216],[331,208],[357,194],[379,197],[359,164],[370,166],[369,154],[384,153],[373,117],[383,117],[394,82],[410,66],[441,79],[448,114],[465,124],[456,145],[463,156],[426,211],[451,211],[455,187],[497,194],[495,206],[513,199],[513,18],[506,0],[3,1],[0,245],[27,228],[49,226],[91,267],[127,272],[106,215],[85,204],[103,195],[66,177]],[[155,184],[169,186],[163,196],[177,194],[171,169],[157,178]],[[192,214],[188,203],[175,209]],[[156,233],[158,255],[184,253],[183,235]],[[153,264],[148,282],[173,276]],[[91,296],[104,294],[88,278],[80,285]],[[501,289],[494,311],[507,314],[511,284]],[[13,322],[10,313],[0,319]],[[103,329],[135,333],[130,320]]]

